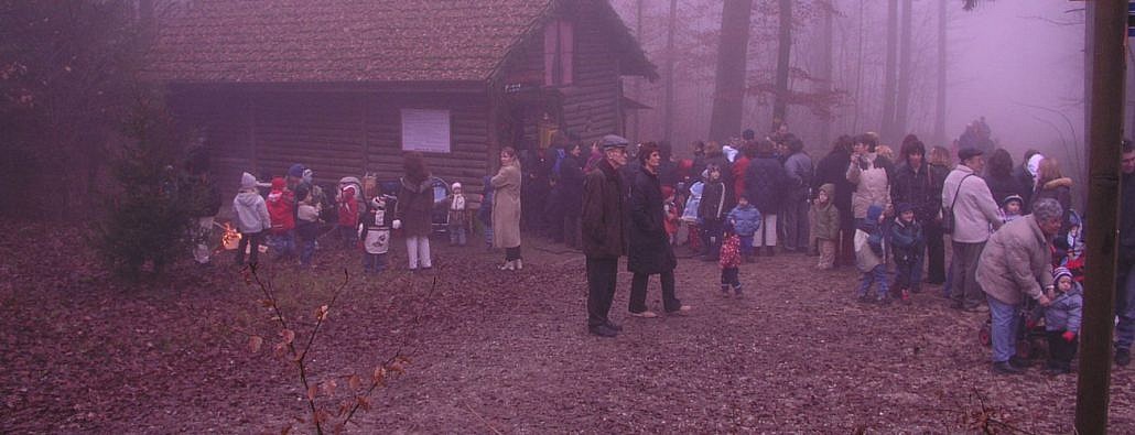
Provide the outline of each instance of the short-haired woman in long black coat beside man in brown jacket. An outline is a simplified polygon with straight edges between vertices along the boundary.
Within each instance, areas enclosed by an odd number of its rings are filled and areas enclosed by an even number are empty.
[[[631,300],[628,308],[631,316],[654,318],[658,315],[646,308],[646,285],[650,275],[659,275],[662,279],[662,302],[667,313],[686,313],[689,306],[683,306],[674,295],[674,268],[678,258],[670,245],[666,227],[663,224],[662,184],[658,182],[658,167],[662,154],[658,145],[647,142],[639,147],[639,170],[631,183],[630,194],[630,242],[627,252],[627,269],[634,274],[631,282]]]

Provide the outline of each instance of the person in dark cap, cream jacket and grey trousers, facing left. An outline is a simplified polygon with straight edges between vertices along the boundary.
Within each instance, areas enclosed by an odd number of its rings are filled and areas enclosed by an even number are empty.
[[[952,307],[966,311],[985,311],[984,294],[977,286],[977,259],[990,239],[990,226],[1001,227],[997,202],[990,193],[985,179],[977,176],[985,167],[982,151],[964,148],[958,151],[958,165],[945,177],[942,185],[942,207],[953,210],[953,246],[951,273],[953,286],[950,291]],[[943,218],[949,218],[949,214]]]

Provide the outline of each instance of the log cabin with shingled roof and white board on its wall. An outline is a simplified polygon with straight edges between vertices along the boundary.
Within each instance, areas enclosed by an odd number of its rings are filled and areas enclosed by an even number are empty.
[[[397,179],[414,150],[479,192],[502,147],[622,133],[622,77],[657,78],[607,0],[195,0],[144,74],[234,191],[294,162]]]

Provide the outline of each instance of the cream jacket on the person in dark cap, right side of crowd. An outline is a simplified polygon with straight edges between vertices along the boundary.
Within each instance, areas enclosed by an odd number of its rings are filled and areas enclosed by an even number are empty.
[[[945,177],[942,186],[943,208],[949,208],[955,202],[953,196],[957,192],[951,240],[959,243],[982,243],[990,237],[990,226],[993,226],[993,229],[1001,227],[1001,217],[998,215],[1000,208],[993,202],[989,186],[982,177],[976,175],[966,177],[972,174],[974,170],[968,166],[958,165]]]

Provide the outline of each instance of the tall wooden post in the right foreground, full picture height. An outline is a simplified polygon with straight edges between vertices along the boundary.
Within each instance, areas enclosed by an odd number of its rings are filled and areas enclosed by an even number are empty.
[[[1111,333],[1115,327],[1119,160],[1124,128],[1127,0],[1087,2],[1087,258],[1076,432],[1108,432]]]

